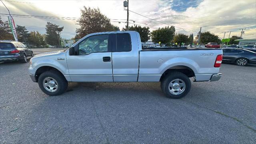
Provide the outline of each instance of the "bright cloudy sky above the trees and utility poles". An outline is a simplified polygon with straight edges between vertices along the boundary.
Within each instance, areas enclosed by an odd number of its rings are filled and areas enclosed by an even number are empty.
[[[80,18],[83,6],[99,8],[120,30],[126,25],[127,11],[124,0],[2,0],[11,14],[35,16],[59,16]],[[129,25],[150,26],[150,31],[165,26],[176,26],[176,32],[198,34],[210,31],[220,38],[240,36],[242,28],[247,28],[243,38],[256,38],[256,0],[129,0]],[[138,14],[143,16],[140,16]],[[0,14],[8,11],[0,3]],[[146,17],[148,18],[146,18]],[[8,20],[1,16],[2,20]],[[26,26],[29,31],[45,33],[46,22],[64,26],[62,38],[73,38],[76,20],[54,20],[42,18],[14,17],[16,25]],[[149,19],[151,18],[151,19]],[[154,21],[154,20],[157,21]],[[120,22],[120,23],[119,23]],[[164,23],[164,24],[163,24]]]

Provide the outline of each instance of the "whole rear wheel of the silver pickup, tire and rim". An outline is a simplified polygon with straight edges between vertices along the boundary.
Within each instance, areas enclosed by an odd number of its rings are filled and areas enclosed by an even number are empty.
[[[191,82],[188,76],[181,72],[172,72],[164,78],[161,84],[168,98],[182,98],[188,94]]]

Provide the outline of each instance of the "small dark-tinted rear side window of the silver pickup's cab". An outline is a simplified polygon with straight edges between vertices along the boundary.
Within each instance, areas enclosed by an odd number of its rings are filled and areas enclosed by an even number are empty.
[[[131,50],[130,34],[116,34],[116,52],[130,52]]]

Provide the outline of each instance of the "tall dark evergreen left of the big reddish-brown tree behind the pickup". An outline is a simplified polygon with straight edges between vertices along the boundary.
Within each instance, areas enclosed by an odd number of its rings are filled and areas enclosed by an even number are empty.
[[[52,46],[58,45],[60,47],[60,32],[63,30],[63,26],[60,27],[51,22],[46,24],[46,42]]]

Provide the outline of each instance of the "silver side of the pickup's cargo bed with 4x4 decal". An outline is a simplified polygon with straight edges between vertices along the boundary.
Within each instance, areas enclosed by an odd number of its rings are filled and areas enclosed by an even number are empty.
[[[220,70],[214,67],[219,54],[222,50],[215,48],[144,49],[140,51],[138,81],[159,81],[161,74],[177,66],[193,70],[196,81],[208,81]]]

